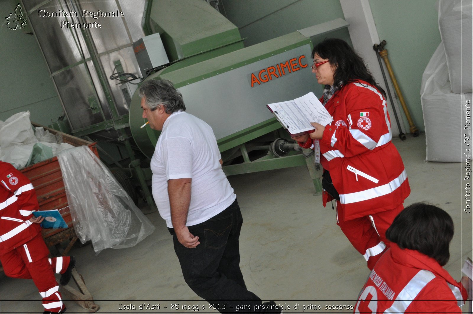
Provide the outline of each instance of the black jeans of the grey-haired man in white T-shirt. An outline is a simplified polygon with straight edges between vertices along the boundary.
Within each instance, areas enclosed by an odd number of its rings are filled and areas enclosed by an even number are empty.
[[[235,200],[216,216],[188,227],[201,242],[195,248],[180,244],[174,229],[169,228],[185,282],[219,312],[262,311],[261,299],[246,290],[240,270],[238,238],[242,224],[240,207]]]

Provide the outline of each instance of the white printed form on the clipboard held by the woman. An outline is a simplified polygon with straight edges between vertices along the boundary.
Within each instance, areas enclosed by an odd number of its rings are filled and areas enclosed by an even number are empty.
[[[324,105],[312,92],[294,100],[268,104],[268,108],[291,135],[300,135],[315,130],[310,122],[326,126],[333,121]]]

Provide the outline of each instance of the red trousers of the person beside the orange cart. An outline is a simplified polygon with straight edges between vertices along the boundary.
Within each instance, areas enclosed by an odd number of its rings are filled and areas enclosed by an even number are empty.
[[[46,311],[59,312],[63,307],[59,285],[54,273],[63,273],[70,257],[48,259],[49,250],[41,233],[16,249],[0,256],[5,275],[13,278],[33,279],[43,297]]]

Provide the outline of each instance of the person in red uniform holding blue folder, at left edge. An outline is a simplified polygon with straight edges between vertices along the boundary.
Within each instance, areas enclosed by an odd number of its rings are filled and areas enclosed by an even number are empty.
[[[9,163],[0,161],[0,262],[5,275],[33,279],[43,297],[44,313],[63,313],[59,286],[54,273],[61,273],[66,285],[75,266],[70,256],[48,259],[49,250],[33,211],[39,209],[31,182]]]

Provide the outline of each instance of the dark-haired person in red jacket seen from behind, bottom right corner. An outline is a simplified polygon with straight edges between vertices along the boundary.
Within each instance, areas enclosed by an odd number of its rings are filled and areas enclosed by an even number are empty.
[[[354,313],[462,313],[467,291],[442,267],[453,230],[437,206],[406,207],[386,231],[391,248],[369,274]]]

